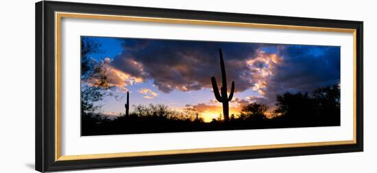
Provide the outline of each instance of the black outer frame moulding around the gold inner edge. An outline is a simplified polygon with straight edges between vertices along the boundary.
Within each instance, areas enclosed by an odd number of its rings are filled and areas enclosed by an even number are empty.
[[[56,160],[56,49],[55,12],[80,12],[124,16],[263,23],[307,27],[336,27],[356,30],[356,143],[331,146],[306,146],[239,150],[225,152],[199,152],[191,154],[163,154],[144,157],[118,157],[97,159]],[[204,12],[143,8],[122,5],[40,1],[36,3],[36,170],[50,172],[89,168],[109,168],[136,165],[226,161],[266,157],[289,157],[308,154],[329,154],[363,151],[363,22],[330,19],[310,19],[290,16]]]

